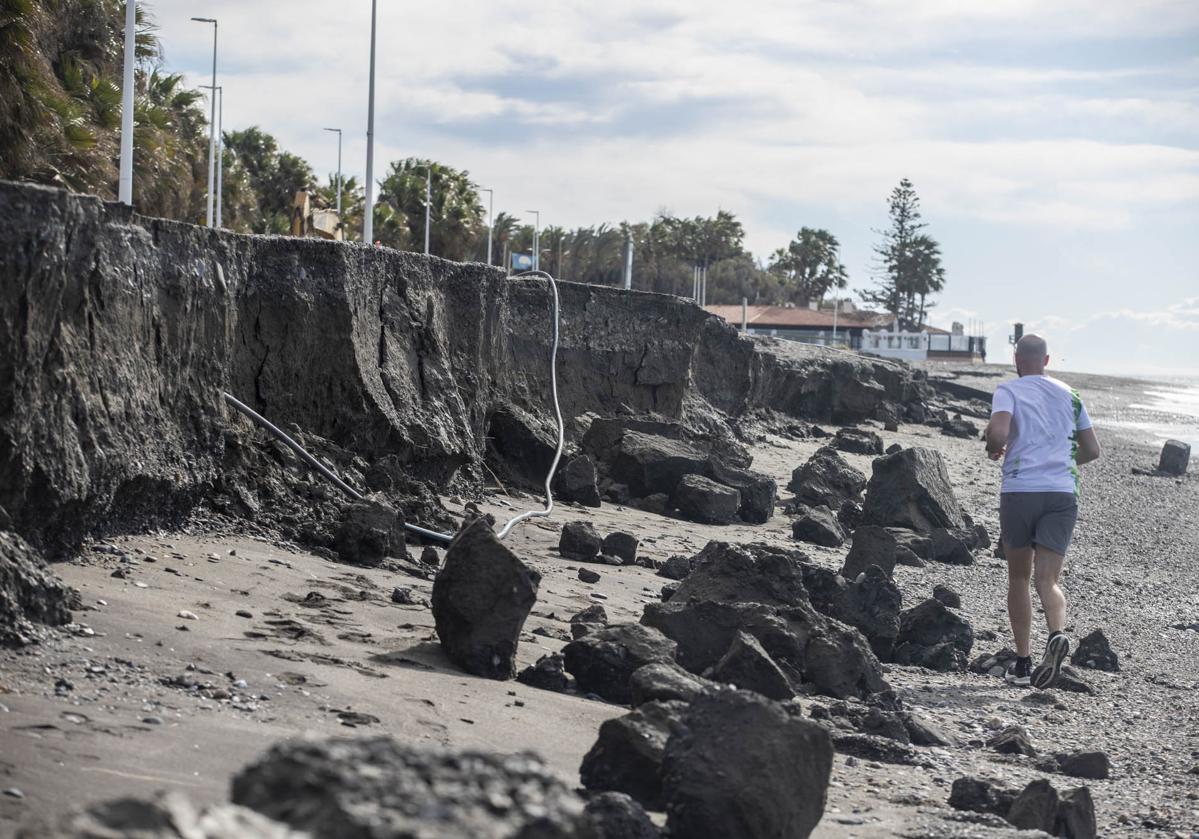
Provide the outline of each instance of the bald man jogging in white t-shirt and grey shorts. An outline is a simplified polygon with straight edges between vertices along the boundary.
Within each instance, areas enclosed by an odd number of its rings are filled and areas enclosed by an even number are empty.
[[[987,424],[987,454],[1004,459],[999,496],[1000,539],[1007,557],[1007,615],[1016,638],[1010,684],[1048,688],[1070,652],[1066,596],[1059,581],[1078,519],[1078,466],[1099,457],[1091,420],[1078,392],[1044,374],[1044,338],[1026,334],[1016,344],[1018,379],[995,388]],[[1036,670],[1030,635],[1034,577],[1046,612],[1049,640]]]

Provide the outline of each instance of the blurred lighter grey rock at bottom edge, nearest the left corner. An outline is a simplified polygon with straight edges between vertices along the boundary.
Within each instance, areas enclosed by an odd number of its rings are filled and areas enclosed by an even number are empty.
[[[44,822],[26,825],[20,839],[305,839],[311,833],[291,831],[236,804],[199,808],[181,792],[158,792],[152,798],[115,798],[79,808]]]

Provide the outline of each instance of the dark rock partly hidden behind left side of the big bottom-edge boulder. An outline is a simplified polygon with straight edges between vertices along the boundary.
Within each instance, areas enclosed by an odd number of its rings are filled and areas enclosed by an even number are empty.
[[[682,730],[685,702],[645,702],[605,719],[583,756],[579,780],[589,790],[623,792],[651,810],[662,809],[662,756]]]

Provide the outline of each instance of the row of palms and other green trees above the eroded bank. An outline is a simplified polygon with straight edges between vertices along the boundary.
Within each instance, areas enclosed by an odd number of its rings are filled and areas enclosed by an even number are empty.
[[[123,61],[120,0],[0,0],[0,177],[64,186],[115,198]],[[163,71],[162,44],[145,4],[138,7],[134,74],[133,203],[147,216],[201,223],[207,187],[207,116],[204,96],[182,76]],[[337,176],[318,179],[307,161],[282,149],[258,126],[222,135],[224,227],[252,234],[290,229],[297,191],[317,206],[336,205]],[[394,161],[378,182],[375,239],[384,246],[424,246],[426,181],[430,182],[429,249],[453,260],[510,262],[531,254],[531,224],[508,212],[488,219],[465,170],[416,157]],[[342,185],[345,237],[361,237],[361,182]],[[926,231],[920,199],[906,179],[888,199],[888,227],[875,231],[874,283],[857,291],[892,313],[905,328],[927,321],[945,285],[939,243]],[[645,222],[621,222],[540,233],[541,267],[583,283],[621,282],[627,242],[634,286],[692,294],[697,267],[706,271],[710,304],[819,304],[842,296],[849,276],[837,237],[802,227],[765,260],[745,246],[741,222],[724,210],[683,218],[667,211]]]

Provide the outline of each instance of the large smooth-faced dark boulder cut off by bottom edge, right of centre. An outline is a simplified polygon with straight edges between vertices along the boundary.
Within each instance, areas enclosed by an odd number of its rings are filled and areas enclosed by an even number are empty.
[[[824,814],[832,744],[797,708],[745,690],[697,699],[667,744],[671,839],[805,839]]]

